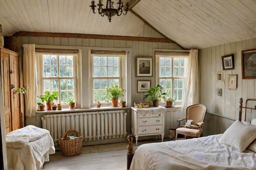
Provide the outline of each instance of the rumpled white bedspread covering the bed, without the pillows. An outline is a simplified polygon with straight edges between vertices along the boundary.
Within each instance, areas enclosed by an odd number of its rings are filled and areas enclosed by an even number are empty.
[[[256,170],[255,152],[238,152],[219,143],[220,136],[143,144],[130,170]]]

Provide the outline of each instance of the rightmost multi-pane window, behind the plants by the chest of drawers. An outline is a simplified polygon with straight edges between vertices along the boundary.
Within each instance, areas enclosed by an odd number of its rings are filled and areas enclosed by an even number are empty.
[[[188,54],[158,53],[156,52],[158,67],[158,84],[173,98],[176,103],[182,103],[184,81],[187,75]]]

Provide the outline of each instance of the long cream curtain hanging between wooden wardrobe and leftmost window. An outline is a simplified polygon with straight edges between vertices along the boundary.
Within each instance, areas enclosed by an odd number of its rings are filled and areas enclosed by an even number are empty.
[[[28,86],[25,96],[25,114],[36,116],[36,53],[35,44],[23,44],[23,81]]]

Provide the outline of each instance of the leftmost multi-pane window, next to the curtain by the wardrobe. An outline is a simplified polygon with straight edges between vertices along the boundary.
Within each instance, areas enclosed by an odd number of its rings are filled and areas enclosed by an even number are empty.
[[[37,54],[38,95],[45,91],[58,92],[60,104],[68,99],[76,101],[76,58],[77,54]]]

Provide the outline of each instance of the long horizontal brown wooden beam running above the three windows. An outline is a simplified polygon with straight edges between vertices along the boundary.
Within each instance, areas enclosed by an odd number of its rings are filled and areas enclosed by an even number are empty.
[[[110,36],[110,35],[94,35],[94,34],[72,34],[72,33],[51,33],[51,32],[25,32],[20,31],[13,36],[37,36],[37,37],[62,37],[62,38],[92,38],[103,40],[126,40],[126,41],[144,41],[144,42],[167,42],[175,43],[169,38],[148,38],[148,37],[133,37],[133,36]]]

